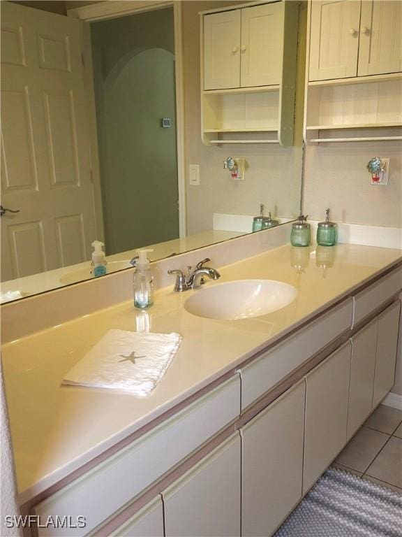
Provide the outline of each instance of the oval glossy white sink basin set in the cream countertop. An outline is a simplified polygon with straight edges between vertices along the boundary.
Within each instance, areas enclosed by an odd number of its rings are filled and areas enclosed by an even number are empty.
[[[296,295],[295,287],[276,280],[235,280],[201,288],[184,308],[209,319],[247,319],[280,310]]]

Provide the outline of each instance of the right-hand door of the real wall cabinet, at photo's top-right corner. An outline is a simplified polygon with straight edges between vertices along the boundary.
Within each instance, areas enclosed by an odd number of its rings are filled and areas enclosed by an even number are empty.
[[[362,2],[359,76],[402,71],[401,22],[401,0]]]

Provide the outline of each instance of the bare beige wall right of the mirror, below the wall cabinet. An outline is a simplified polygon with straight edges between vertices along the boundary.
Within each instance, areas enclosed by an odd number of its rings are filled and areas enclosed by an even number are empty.
[[[373,186],[366,169],[372,157],[389,157],[389,184]],[[322,220],[387,227],[402,226],[402,143],[350,142],[306,148],[303,208]]]

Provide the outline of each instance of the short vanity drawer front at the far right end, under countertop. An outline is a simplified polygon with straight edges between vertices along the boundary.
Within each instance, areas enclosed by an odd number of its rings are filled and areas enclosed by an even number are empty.
[[[390,299],[402,289],[402,267],[364,289],[355,296],[353,326],[369,315],[375,308]]]

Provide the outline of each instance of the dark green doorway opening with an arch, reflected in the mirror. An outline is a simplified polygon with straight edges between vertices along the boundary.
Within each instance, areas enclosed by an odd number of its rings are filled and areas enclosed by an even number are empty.
[[[94,22],[91,42],[107,255],[178,238],[173,10]]]

